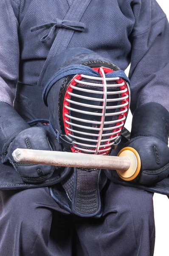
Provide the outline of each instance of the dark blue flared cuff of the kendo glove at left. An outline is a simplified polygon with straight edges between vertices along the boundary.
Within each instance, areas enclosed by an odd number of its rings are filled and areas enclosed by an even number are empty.
[[[6,102],[0,102],[0,154],[2,163],[6,162],[6,154],[9,143],[21,131],[30,125]]]

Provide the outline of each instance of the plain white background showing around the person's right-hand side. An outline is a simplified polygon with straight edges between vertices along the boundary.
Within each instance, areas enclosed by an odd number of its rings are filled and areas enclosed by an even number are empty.
[[[157,2],[169,20],[169,0],[157,0]],[[132,115],[129,113],[125,124],[129,131],[131,130],[131,120]],[[153,202],[156,230],[154,256],[169,256],[169,199],[165,195],[154,194]]]

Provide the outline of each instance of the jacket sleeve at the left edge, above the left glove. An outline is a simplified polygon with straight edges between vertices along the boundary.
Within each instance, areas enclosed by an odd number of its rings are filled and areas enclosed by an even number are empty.
[[[18,0],[0,0],[0,101],[12,105],[19,70]]]

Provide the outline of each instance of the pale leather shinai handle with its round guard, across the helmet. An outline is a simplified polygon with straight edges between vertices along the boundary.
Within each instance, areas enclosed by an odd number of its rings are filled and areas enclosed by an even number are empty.
[[[124,150],[123,150],[124,151]],[[131,166],[133,169],[133,159],[131,157],[131,152],[128,150],[128,154],[124,154],[120,157],[114,156],[104,156],[104,155],[94,155],[94,154],[75,154],[71,152],[61,152],[61,151],[45,151],[45,150],[34,150],[34,149],[23,149],[17,148],[12,153],[14,161],[20,163],[34,163],[34,164],[48,164],[54,166],[71,166],[71,167],[81,167],[81,168],[97,168],[97,169],[110,169],[117,170],[118,175],[121,178],[130,178],[133,175],[133,170],[131,172]],[[121,151],[120,151],[121,152]],[[119,153],[120,153],[119,152]],[[127,151],[126,151],[127,153]],[[130,153],[130,154],[129,154]],[[135,154],[133,154],[135,156]],[[136,163],[136,167],[138,163]],[[127,172],[128,175],[127,175]],[[125,175],[124,175],[125,173]],[[135,173],[135,166],[134,166]],[[130,176],[130,177],[128,177]]]

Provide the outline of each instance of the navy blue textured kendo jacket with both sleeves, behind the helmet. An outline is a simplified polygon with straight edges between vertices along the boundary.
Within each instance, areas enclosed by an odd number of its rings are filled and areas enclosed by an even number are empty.
[[[17,86],[17,110],[42,109],[49,61],[63,49],[85,47],[122,70],[131,62],[132,112],[152,101],[169,110],[169,24],[155,0],[1,0],[0,10],[0,101],[12,105]],[[54,26],[58,19],[85,23],[85,30]],[[40,92],[36,104],[32,92]]]

